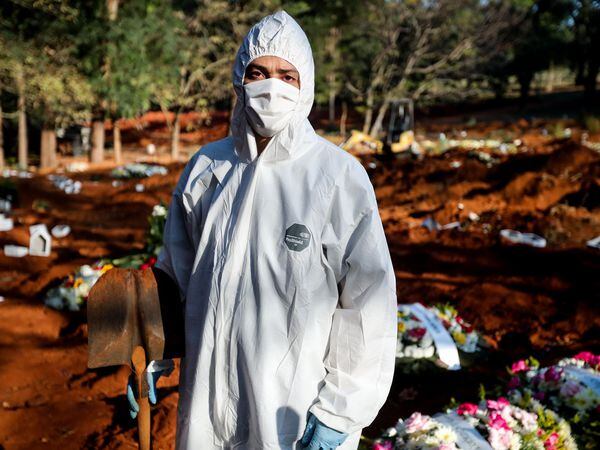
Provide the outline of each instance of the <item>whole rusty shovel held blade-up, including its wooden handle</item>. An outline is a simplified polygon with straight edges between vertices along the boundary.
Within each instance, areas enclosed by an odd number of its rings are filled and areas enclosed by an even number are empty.
[[[158,269],[111,269],[88,296],[88,367],[128,365],[133,369],[142,450],[150,450],[150,404],[144,377],[147,364],[183,354],[181,302],[173,301],[173,297],[178,297],[176,286]],[[165,311],[164,324],[161,308]],[[168,345],[165,335],[170,337]],[[170,350],[165,352],[165,347]]]

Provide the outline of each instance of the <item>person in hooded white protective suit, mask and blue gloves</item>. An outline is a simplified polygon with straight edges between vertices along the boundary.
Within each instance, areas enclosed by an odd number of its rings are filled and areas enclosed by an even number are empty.
[[[396,347],[372,185],[307,119],[312,51],[288,14],[252,27],[233,85],[232,136],[186,166],[157,263],[185,302],[177,448],[356,449]]]

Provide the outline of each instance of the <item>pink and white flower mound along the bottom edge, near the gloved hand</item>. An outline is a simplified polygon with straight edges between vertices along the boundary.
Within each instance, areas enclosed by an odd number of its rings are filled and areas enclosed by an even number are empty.
[[[377,439],[372,450],[575,450],[569,424],[554,412],[530,412],[505,398],[463,403],[433,417],[413,413]]]

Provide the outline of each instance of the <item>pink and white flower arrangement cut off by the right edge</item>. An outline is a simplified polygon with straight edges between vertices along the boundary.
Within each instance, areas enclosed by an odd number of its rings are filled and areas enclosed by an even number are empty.
[[[600,442],[600,355],[581,352],[549,367],[534,358],[509,369],[508,396],[526,409],[550,408],[567,418],[579,448]]]

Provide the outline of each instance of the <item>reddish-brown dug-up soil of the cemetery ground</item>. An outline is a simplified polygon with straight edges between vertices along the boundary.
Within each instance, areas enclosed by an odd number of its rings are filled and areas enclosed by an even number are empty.
[[[454,126],[470,138],[518,138],[514,154],[453,148],[421,158],[363,158],[399,302],[450,303],[489,345],[461,371],[398,371],[366,436],[415,410],[433,413],[452,398],[476,400],[480,385],[493,388],[518,358],[551,363],[600,349],[600,250],[586,246],[600,235],[600,153],[580,143],[582,130],[571,126],[569,137],[557,137],[548,132],[555,125]],[[452,133],[439,125],[427,131]],[[588,139],[597,143],[600,135]],[[130,151],[128,158],[141,156]],[[45,174],[11,178],[18,192],[15,226],[0,233],[1,245],[27,245],[35,223],[64,223],[72,231],[53,241],[48,258],[0,255],[0,448],[136,448],[124,395],[128,369],[87,370],[85,312],[58,312],[43,298],[82,264],[143,248],[147,216],[169,201],[183,164],[167,168],[167,175],[116,185],[108,167],[66,173],[81,181],[79,194],[57,189]],[[144,185],[142,192],[136,184]],[[428,229],[422,226],[428,218],[460,225]],[[507,228],[541,235],[547,247],[507,243],[499,237]],[[177,376],[159,383],[156,449],[174,445]]]

